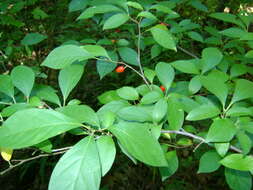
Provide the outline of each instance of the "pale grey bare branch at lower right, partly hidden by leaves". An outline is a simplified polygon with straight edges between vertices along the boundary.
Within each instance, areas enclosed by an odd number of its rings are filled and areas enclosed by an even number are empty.
[[[205,144],[208,144],[208,145],[211,145],[209,142],[207,142],[203,137],[200,137],[200,136],[197,136],[197,135],[194,135],[192,133],[188,133],[186,131],[170,131],[170,130],[162,130],[161,133],[168,133],[168,134],[177,134],[177,135],[183,135],[183,136],[187,136],[187,137],[191,137],[193,139],[196,139],[196,140],[199,140],[201,141],[201,144],[202,143],[205,143]],[[238,153],[242,153],[242,150],[236,148],[235,146],[230,146],[229,147],[230,150],[233,150],[235,152],[238,152]]]

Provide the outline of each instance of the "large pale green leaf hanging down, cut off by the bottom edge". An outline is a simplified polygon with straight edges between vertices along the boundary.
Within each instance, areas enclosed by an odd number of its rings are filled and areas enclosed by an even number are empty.
[[[98,190],[101,167],[96,142],[92,136],[79,141],[56,164],[49,190]]]

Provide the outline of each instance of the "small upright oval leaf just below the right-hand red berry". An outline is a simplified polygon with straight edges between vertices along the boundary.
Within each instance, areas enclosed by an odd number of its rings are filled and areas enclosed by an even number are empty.
[[[167,109],[168,109],[167,101],[165,99],[160,99],[155,104],[155,107],[154,107],[154,110],[153,110],[153,115],[152,115],[153,116],[153,121],[155,123],[159,123],[164,118],[164,116],[166,115]]]

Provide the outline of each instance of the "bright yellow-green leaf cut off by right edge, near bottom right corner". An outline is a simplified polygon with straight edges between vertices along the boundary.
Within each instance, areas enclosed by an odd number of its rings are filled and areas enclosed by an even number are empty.
[[[240,171],[250,171],[253,169],[253,157],[244,156],[243,154],[230,154],[223,158],[220,163],[225,167]]]

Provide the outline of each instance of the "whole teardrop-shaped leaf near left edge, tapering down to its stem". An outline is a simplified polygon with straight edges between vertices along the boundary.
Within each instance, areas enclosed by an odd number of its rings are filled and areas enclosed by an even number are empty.
[[[17,66],[11,71],[11,79],[15,87],[23,92],[26,97],[30,96],[35,80],[32,69],[26,66]]]

